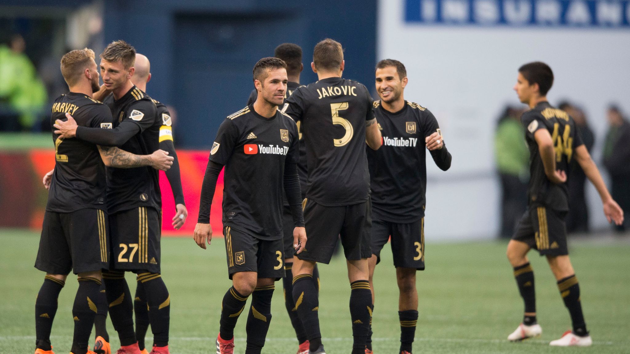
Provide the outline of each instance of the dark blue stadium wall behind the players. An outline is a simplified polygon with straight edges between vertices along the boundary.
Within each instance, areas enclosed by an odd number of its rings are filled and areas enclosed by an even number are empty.
[[[312,49],[345,48],[344,76],[372,87],[377,0],[105,1],[105,40],[124,39],[151,60],[151,96],[175,106],[178,146],[208,148],[224,118],[244,107],[251,69],[284,42],[304,52],[301,83],[316,81]]]

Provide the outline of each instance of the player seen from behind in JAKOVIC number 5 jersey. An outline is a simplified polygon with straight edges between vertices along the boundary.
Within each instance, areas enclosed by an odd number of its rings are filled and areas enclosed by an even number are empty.
[[[319,81],[295,89],[286,112],[300,122],[307,154],[304,221],[309,245],[294,258],[293,298],[304,324],[309,353],[324,353],[319,331],[316,263],[328,264],[339,236],[350,280],[352,353],[364,353],[372,314],[367,258],[370,250],[370,176],[365,142],[381,147],[381,132],[364,85],[343,79],[343,49],[335,40],[319,42],[311,68]]]

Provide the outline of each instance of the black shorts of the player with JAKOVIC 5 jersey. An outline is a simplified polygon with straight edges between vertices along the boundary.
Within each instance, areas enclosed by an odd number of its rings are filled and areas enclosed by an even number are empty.
[[[306,248],[297,254],[301,260],[328,264],[339,238],[347,260],[372,256],[372,203],[369,200],[341,207],[325,207],[308,199],[304,206],[304,223],[308,239]]]

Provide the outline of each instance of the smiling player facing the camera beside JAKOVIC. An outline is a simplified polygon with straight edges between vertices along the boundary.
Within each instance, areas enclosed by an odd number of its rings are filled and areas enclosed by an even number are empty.
[[[416,270],[425,269],[426,149],[442,171],[450,168],[452,157],[433,113],[404,100],[408,79],[403,63],[381,60],[376,65],[375,76],[381,100],[374,101],[374,115],[379,122],[383,146],[377,151],[367,149],[372,191],[372,257],[369,259],[372,311],[374,268],[391,236],[399,290],[399,353],[411,354],[418,321]],[[371,336],[370,326],[365,353],[372,353]]]

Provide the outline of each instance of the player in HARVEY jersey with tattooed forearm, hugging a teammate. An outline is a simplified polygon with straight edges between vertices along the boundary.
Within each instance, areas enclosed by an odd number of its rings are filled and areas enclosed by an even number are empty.
[[[98,70],[94,52],[72,50],[61,59],[61,72],[69,87],[52,106],[51,123],[76,117],[83,127],[106,130],[112,127],[112,113],[93,100],[98,91]],[[105,166],[134,168],[154,166],[168,169],[173,159],[164,151],[137,156],[116,147],[101,147],[78,139],[53,134],[55,169],[44,179],[49,189],[35,268],[46,276],[35,302],[36,354],[52,354],[50,330],[57,312],[57,297],[70,270],[78,275],[72,316],[72,353],[88,350],[89,334],[101,285],[101,269],[109,267],[108,218],[106,212]]]

